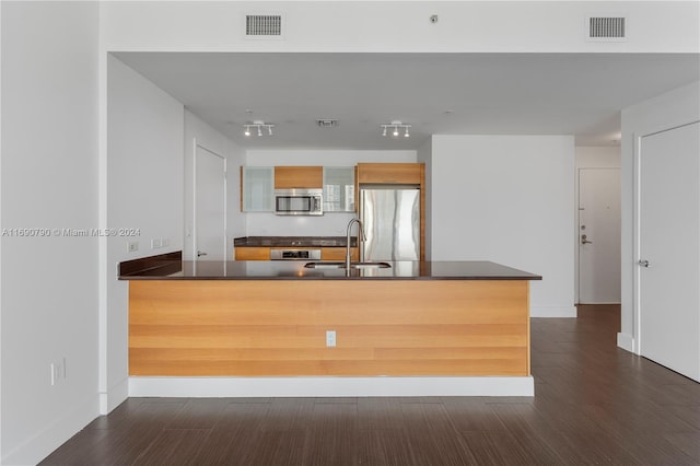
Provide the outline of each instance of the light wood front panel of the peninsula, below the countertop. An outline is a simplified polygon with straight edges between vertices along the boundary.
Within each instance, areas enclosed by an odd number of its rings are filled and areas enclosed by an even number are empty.
[[[529,375],[524,280],[129,283],[129,373]],[[326,347],[335,330],[337,346]]]

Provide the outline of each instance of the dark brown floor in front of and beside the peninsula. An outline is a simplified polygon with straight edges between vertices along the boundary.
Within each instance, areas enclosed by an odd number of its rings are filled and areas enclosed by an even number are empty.
[[[700,464],[700,384],[579,315],[533,318],[534,398],[130,398],[42,464]]]

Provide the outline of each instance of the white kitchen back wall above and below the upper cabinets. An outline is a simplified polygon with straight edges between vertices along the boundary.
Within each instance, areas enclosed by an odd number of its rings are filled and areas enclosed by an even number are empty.
[[[250,150],[246,165],[354,166],[358,163],[416,162],[416,151],[352,150]],[[246,213],[247,236],[345,236],[354,213],[328,212],[322,217],[282,217],[267,212]]]

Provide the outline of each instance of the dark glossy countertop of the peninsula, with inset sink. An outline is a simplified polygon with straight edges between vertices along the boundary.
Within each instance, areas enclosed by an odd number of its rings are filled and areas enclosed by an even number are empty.
[[[390,268],[314,269],[306,260],[179,260],[177,253],[120,264],[120,280],[541,280],[490,261],[396,261]],[[153,261],[155,266],[149,264]],[[141,264],[141,266],[139,266]]]

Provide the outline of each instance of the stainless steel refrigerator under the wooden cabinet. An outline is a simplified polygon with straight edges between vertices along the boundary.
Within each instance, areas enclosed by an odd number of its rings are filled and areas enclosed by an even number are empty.
[[[420,260],[420,187],[363,185],[364,260]]]

